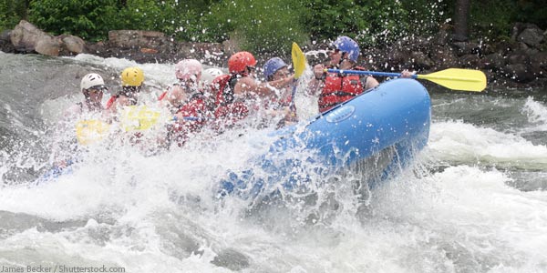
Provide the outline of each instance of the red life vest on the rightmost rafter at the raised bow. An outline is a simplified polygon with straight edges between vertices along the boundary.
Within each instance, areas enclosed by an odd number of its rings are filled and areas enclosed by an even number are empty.
[[[361,67],[354,67],[355,70],[365,70]],[[325,77],[325,87],[319,95],[319,112],[337,106],[349,99],[363,93],[363,76],[345,75],[339,73],[328,73]]]

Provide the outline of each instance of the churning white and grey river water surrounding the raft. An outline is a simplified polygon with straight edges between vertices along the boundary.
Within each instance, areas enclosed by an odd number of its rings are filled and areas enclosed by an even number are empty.
[[[56,120],[81,99],[81,76],[95,71],[117,86],[133,65],[0,52],[0,268],[547,271],[547,88],[428,85],[428,147],[371,193],[365,216],[346,187],[316,206],[217,199],[226,170],[263,152],[267,137],[253,129],[155,156],[96,147],[72,173],[36,186]],[[174,81],[172,65],[139,66],[150,93]],[[303,118],[314,115],[313,98],[298,92],[296,102]]]

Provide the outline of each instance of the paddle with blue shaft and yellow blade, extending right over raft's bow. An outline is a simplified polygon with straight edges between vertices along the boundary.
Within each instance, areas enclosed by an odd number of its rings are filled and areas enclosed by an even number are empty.
[[[329,73],[357,74],[369,76],[401,76],[400,73],[326,69]],[[427,79],[453,90],[480,92],[486,88],[486,76],[480,70],[449,68],[428,75],[413,75],[412,78]]]

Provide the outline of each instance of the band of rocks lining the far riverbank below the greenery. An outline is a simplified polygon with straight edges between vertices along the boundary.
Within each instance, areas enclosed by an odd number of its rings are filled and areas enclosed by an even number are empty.
[[[428,74],[450,67],[483,70],[490,83],[514,83],[520,86],[542,86],[547,83],[547,32],[537,25],[516,23],[511,39],[489,43],[482,39],[451,40],[447,25],[437,34],[409,36],[384,47],[361,47],[360,66],[368,70],[396,72],[402,69]],[[137,63],[176,63],[183,58],[196,58],[209,66],[226,66],[228,57],[242,50],[241,37],[232,35],[221,43],[177,42],[157,31],[112,30],[108,40],[89,43],[74,35],[52,36],[26,21],[0,35],[0,50],[9,53],[39,53],[48,56],[75,56],[80,53],[101,57],[119,57]],[[301,45],[308,64],[325,62],[326,43]],[[255,54],[259,65],[271,57]],[[282,56],[290,61],[291,56]]]

